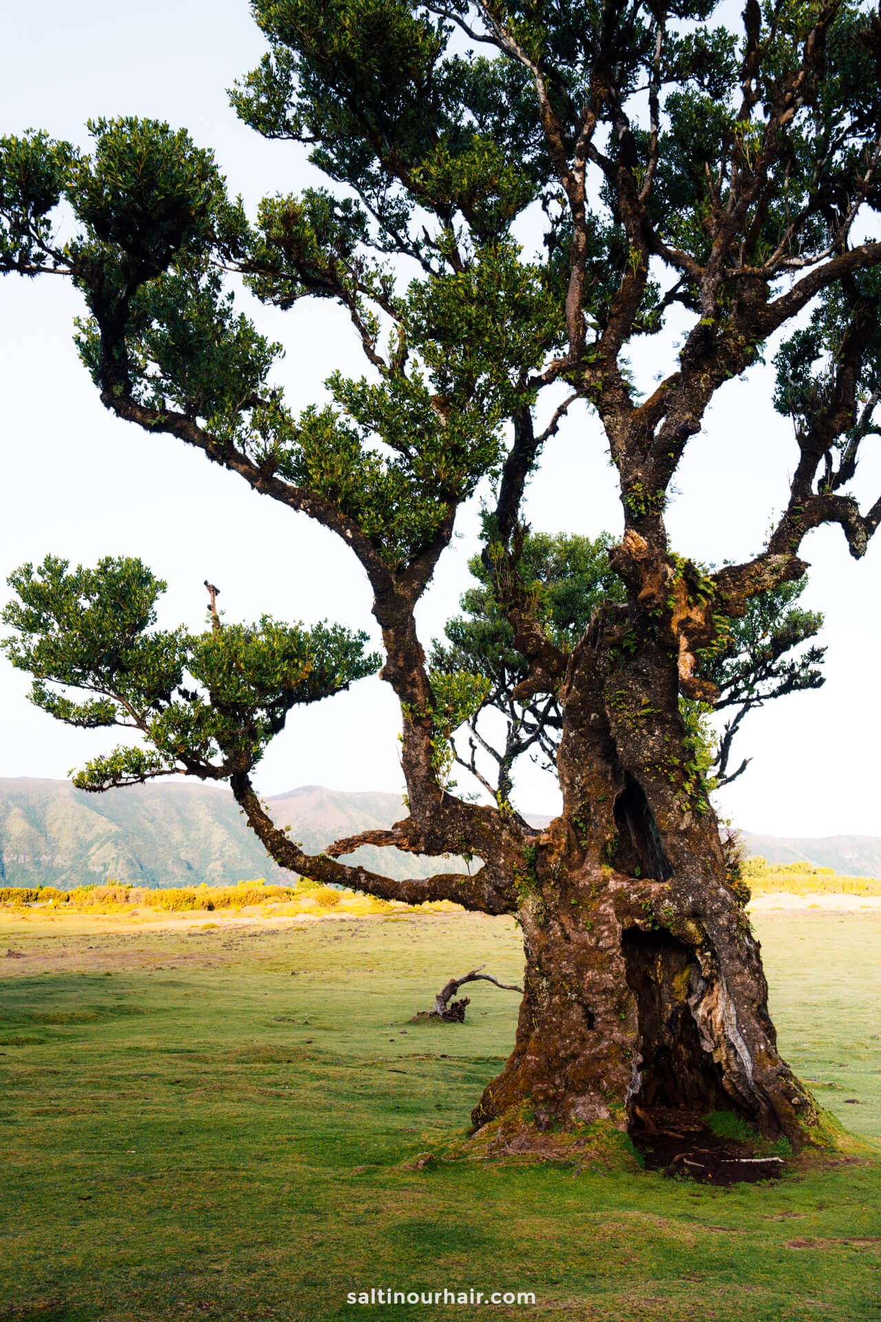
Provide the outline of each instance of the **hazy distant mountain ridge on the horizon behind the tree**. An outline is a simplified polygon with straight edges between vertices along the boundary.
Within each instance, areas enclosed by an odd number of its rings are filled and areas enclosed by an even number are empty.
[[[310,853],[342,836],[391,826],[404,816],[399,795],[349,793],[301,785],[265,800],[279,826]],[[547,816],[531,814],[536,826]],[[881,838],[761,836],[744,832],[750,854],[771,863],[806,859],[852,876],[881,875]],[[460,859],[413,858],[365,846],[358,862],[390,876],[456,871]],[[148,784],[86,795],[66,780],[0,779],[0,886],[71,890],[108,876],[140,886],[227,884],[264,876],[291,880],[246,826],[229,789]]]

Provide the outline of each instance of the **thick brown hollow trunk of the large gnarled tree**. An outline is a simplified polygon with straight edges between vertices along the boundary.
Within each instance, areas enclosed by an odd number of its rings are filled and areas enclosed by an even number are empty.
[[[655,656],[571,666],[564,812],[518,876],[524,997],[476,1128],[612,1124],[638,1134],[729,1110],[800,1146],[816,1108],[777,1051],[758,941]]]

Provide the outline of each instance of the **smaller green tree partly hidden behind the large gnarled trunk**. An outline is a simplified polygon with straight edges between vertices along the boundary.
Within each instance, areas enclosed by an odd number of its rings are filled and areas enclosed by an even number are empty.
[[[609,564],[612,543],[608,533],[596,541],[577,534],[530,533],[524,537],[519,572],[530,583],[544,632],[557,646],[573,646],[604,602],[623,600],[621,583]],[[555,693],[534,695],[526,705],[514,697],[528,678],[528,664],[514,646],[514,629],[493,591],[493,575],[479,557],[470,562],[470,570],[479,586],[462,594],[458,603],[462,613],[446,621],[445,642],[432,646],[431,678],[435,685],[439,676],[470,674],[482,681],[483,697],[465,723],[468,756],[456,740],[450,743],[458,765],[465,767],[497,802],[510,804],[514,764],[524,752],[530,752],[534,761],[544,759],[546,771],[556,771],[563,715]],[[709,654],[701,658],[717,697],[712,706],[680,698],[683,720],[704,743],[707,773],[712,772],[715,788],[730,784],[752,760],[745,758],[736,771],[728,771],[732,742],[748,713],[789,693],[819,689],[824,682],[818,666],[826,648],[811,645],[800,654],[790,654],[816,637],[823,625],[818,611],[795,605],[806,586],[807,579],[781,583],[752,598],[742,619],[719,619],[719,637]],[[705,730],[703,718],[712,710],[730,707],[736,711],[716,739]],[[478,728],[483,713],[502,718],[503,736]],[[491,779],[478,765],[478,751],[495,764]]]

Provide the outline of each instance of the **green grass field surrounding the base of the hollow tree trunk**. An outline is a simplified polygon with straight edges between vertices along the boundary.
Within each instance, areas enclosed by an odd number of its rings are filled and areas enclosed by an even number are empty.
[[[462,1134],[522,972],[507,920],[287,925],[0,914],[0,1317],[461,1318],[350,1290],[530,1290],[494,1318],[881,1318],[881,1161],[729,1190],[569,1166],[408,1166]],[[881,1137],[881,915],[756,920],[785,1054]],[[848,1099],[857,1099],[856,1104]],[[479,1315],[481,1309],[477,1309]]]

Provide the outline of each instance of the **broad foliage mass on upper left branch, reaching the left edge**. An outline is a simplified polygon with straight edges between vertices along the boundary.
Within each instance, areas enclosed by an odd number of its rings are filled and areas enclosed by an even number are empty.
[[[182,131],[119,119],[91,132],[91,156],[45,135],[0,143],[0,270],[73,276],[90,311],[81,356],[106,397],[145,410],[144,426],[198,424],[351,518],[405,567],[498,463],[503,423],[531,399],[527,374],[561,342],[540,268],[520,260],[505,223],[485,226],[466,268],[428,272],[398,293],[392,270],[367,255],[359,202],[320,189],[269,198],[251,229],[210,152]],[[472,151],[476,209],[501,205],[485,189],[477,201],[491,155],[483,140]],[[435,151],[424,177],[439,173]],[[62,198],[78,227],[54,249]],[[296,418],[269,379],[280,346],[236,312],[221,264],[238,264],[280,307],[304,295],[341,301],[379,382],[332,375],[334,405]],[[380,317],[391,327],[384,358]]]

